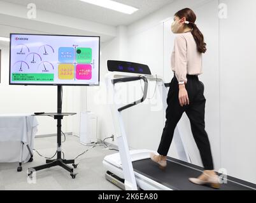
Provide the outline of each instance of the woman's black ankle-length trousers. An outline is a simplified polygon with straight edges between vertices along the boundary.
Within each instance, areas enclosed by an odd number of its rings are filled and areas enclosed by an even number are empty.
[[[185,87],[188,92],[189,105],[181,107],[178,98],[179,85],[174,75],[171,81],[166,109],[166,125],[162,132],[162,138],[157,152],[166,156],[173,140],[174,129],[180,121],[183,112],[186,112],[190,120],[192,134],[196,141],[205,170],[213,170],[213,159],[208,134],[205,131],[204,112],[206,98],[204,98],[204,84],[199,81],[197,75],[187,75]]]

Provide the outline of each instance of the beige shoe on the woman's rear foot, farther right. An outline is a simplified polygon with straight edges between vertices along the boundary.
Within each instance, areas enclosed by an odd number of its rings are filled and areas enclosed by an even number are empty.
[[[188,180],[196,185],[210,185],[210,187],[219,189],[220,181],[217,175],[209,176],[206,173],[203,173],[206,180],[201,180],[199,178],[188,178]]]

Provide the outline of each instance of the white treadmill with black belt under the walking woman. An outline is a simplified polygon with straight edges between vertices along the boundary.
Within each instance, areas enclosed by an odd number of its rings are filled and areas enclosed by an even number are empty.
[[[157,154],[157,152],[146,149],[129,150],[122,112],[145,101],[148,81],[155,81],[156,85],[162,88],[163,104],[166,107],[169,84],[164,84],[161,77],[153,76],[147,65],[116,60],[108,60],[107,63],[109,72],[106,75],[106,85],[108,98],[112,99],[110,107],[119,152],[104,157],[103,166],[106,180],[123,190],[217,190],[207,185],[195,185],[188,181],[188,178],[199,176],[204,169],[190,162],[178,127],[174,131],[173,141],[178,149],[179,159],[167,157],[167,167],[164,170],[150,159],[150,153]],[[143,97],[138,101],[119,107],[114,97],[115,85],[132,81],[144,81]],[[253,183],[225,174],[218,175],[220,183],[224,183],[219,190],[256,190],[256,185]]]

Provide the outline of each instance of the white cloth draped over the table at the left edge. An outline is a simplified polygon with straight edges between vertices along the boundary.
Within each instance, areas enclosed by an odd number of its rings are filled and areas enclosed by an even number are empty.
[[[24,142],[22,161],[30,158],[29,147],[34,147],[34,136],[38,121],[31,114],[0,114],[0,162],[18,162],[20,160],[21,141]]]

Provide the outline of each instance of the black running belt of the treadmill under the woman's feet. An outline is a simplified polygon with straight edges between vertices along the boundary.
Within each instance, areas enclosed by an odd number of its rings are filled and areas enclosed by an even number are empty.
[[[197,178],[203,171],[202,167],[171,157],[167,159],[169,161],[164,170],[151,159],[138,160],[132,162],[132,165],[134,171],[173,190],[217,190],[206,185],[195,185],[188,180],[188,178]],[[227,184],[220,185],[220,190],[253,190],[253,188],[256,189],[254,184],[232,177],[228,177]]]

